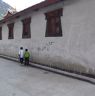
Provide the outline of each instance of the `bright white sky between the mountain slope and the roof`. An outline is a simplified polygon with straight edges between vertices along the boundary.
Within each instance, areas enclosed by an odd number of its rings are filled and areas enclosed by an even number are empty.
[[[13,8],[16,8],[17,11],[21,11],[44,0],[2,0],[2,1],[8,3]]]

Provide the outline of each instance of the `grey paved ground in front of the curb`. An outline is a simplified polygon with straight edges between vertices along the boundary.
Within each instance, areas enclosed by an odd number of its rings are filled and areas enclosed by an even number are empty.
[[[0,96],[95,96],[95,85],[0,58]]]

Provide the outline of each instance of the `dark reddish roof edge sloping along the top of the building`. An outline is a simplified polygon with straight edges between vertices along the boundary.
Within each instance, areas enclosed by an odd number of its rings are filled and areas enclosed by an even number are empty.
[[[37,10],[39,10],[41,8],[53,5],[53,4],[61,2],[61,1],[64,1],[64,0],[53,0],[52,2],[49,2],[48,0],[42,1],[42,2],[37,3],[37,4],[35,4],[35,5],[31,6],[31,7],[26,8],[26,9],[20,11],[20,12],[17,12],[15,14],[13,14],[12,16],[8,17],[8,18],[0,20],[0,24],[5,23],[5,22],[7,22],[7,21],[9,21],[11,19],[14,19],[14,18],[19,18],[21,15],[24,15],[24,14],[26,14],[28,12],[37,11]]]

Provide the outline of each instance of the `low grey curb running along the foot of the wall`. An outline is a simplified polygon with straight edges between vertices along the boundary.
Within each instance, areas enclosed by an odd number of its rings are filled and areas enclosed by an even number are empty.
[[[12,60],[12,61],[15,61],[15,62],[19,62],[17,58],[5,56],[5,55],[0,55],[0,57],[4,58],[4,59],[7,59],[7,60]],[[41,64],[32,63],[32,62],[30,62],[30,66],[40,68],[40,69],[43,69],[43,70],[46,70],[46,71],[50,71],[50,72],[53,72],[53,73],[57,73],[57,74],[60,74],[60,75],[64,75],[64,76],[67,76],[67,77],[71,77],[71,78],[74,78],[74,79],[82,80],[82,81],[85,81],[85,82],[88,82],[88,83],[91,83],[91,84],[95,85],[95,78],[90,78],[90,77],[87,77],[87,76],[62,71],[62,70],[59,70],[59,69],[43,66]]]

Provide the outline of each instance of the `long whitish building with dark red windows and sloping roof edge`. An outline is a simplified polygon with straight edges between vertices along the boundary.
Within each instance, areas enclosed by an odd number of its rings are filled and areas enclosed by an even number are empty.
[[[0,21],[0,54],[95,74],[95,0],[45,0]]]

